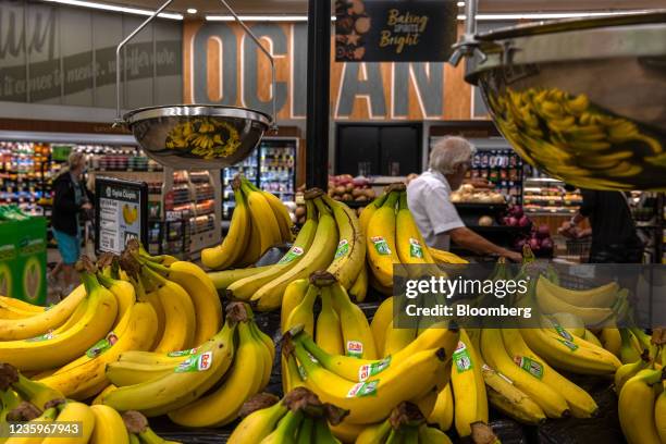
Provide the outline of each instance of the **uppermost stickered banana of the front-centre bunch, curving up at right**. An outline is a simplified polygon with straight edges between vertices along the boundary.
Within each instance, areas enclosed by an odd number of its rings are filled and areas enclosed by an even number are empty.
[[[453,355],[453,351],[458,344],[458,332],[447,329],[433,329],[428,334],[422,334],[407,347],[403,348],[392,357],[383,359],[359,359],[344,355],[331,355],[319,347],[312,338],[296,331],[294,334],[294,345],[301,346],[311,354],[318,361],[319,365],[326,370],[337,374],[340,378],[344,378],[351,382],[363,382],[377,374],[381,374],[392,366],[398,366],[409,356],[434,348],[443,348],[444,354],[448,357]]]

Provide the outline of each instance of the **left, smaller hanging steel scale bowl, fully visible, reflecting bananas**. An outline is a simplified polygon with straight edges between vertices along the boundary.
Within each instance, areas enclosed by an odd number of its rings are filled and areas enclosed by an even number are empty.
[[[141,108],[123,116],[157,162],[175,169],[222,169],[249,156],[269,115],[236,107],[180,104]]]

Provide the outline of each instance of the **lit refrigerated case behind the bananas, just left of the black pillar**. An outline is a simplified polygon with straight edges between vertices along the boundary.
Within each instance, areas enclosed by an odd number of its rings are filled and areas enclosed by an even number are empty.
[[[230,184],[238,173],[261,189],[273,193],[282,201],[295,201],[298,143],[297,137],[264,137],[247,159],[222,170],[224,219],[231,219],[236,205]]]

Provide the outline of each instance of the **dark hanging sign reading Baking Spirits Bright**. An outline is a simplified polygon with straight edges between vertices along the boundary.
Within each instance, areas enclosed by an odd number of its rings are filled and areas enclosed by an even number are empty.
[[[335,60],[446,61],[457,12],[453,0],[336,0]]]

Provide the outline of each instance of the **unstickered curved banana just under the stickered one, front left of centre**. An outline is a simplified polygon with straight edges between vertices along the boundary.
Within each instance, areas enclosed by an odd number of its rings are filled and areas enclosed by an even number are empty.
[[[263,388],[263,344],[252,341],[250,328],[245,322],[238,325],[238,332],[236,358],[224,383],[212,393],[170,411],[173,422],[184,427],[225,425],[237,418],[243,403]]]

